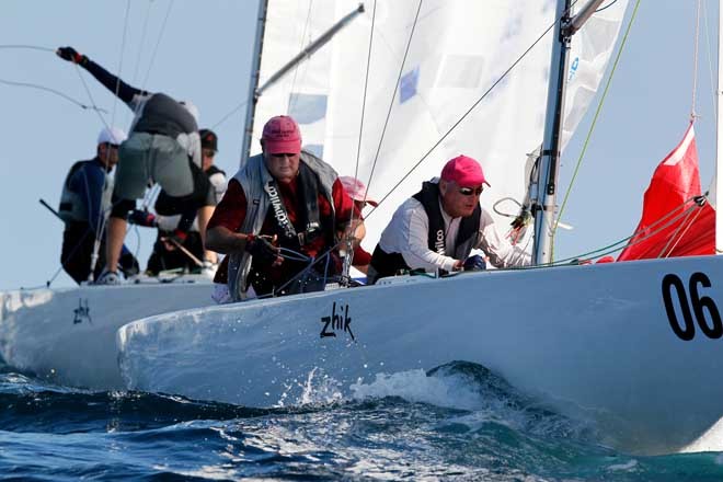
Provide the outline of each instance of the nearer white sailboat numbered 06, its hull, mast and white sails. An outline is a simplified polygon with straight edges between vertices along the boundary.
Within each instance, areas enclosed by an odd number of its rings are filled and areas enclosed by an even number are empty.
[[[382,173],[370,177],[370,191],[392,192],[385,200],[394,207],[415,192],[421,180],[438,173],[448,152],[461,149],[483,161],[494,186],[493,199],[512,198],[523,204],[529,179],[525,154],[533,152],[537,142],[544,139],[543,159],[538,164],[542,173],[538,186],[544,188],[537,188],[530,197],[539,206],[554,206],[554,198],[546,198],[554,192],[548,186],[556,181],[559,160],[554,153],[564,147],[565,133],[574,130],[575,113],[579,116],[585,111],[585,103],[575,97],[592,97],[610,54],[609,47],[596,53],[598,64],[594,69],[594,62],[585,62],[575,48],[587,45],[579,42],[585,35],[600,44],[596,36],[599,33],[592,28],[596,22],[608,35],[605,45],[612,44],[626,2],[586,2],[576,16],[567,16],[570,2],[564,0],[556,9],[521,2],[525,4],[515,12],[509,12],[506,2],[477,2],[477,7],[466,3],[461,13],[455,11],[459,3],[432,2],[425,3],[417,16],[413,8],[416,2],[378,3],[376,20],[367,9],[363,16],[366,20],[337,34],[348,35],[346,44],[351,47],[344,47],[340,39],[324,56],[298,67],[286,83],[276,85],[280,101],[274,104],[276,97],[267,93],[259,96],[255,115],[263,118],[268,112],[283,110],[299,116],[301,106],[313,107],[317,115],[309,115],[306,123],[300,120],[302,131],[310,133],[307,142],[323,148],[323,156],[330,160],[356,159],[356,146],[344,150],[344,142],[359,142],[359,179],[367,181],[365,174],[378,160],[376,169]],[[324,10],[328,15],[332,11]],[[575,22],[586,15],[592,23],[581,27],[581,36],[573,36],[572,49],[566,50],[570,37],[561,31],[570,25],[577,27]],[[334,18],[342,15],[337,12]],[[267,35],[294,32],[288,25],[273,24],[268,15],[266,22]],[[368,96],[357,97],[348,91],[342,99],[328,95],[334,82],[320,83],[315,76],[324,68],[336,72],[334,62],[345,66],[335,73],[343,78],[338,85],[348,89],[354,84],[352,79],[364,78],[349,66],[365,57],[352,56],[344,48],[364,50],[360,38],[368,38],[368,30],[365,37],[354,26],[369,28],[370,24],[378,44],[371,43],[368,68],[374,80]],[[311,30],[311,24],[300,25]],[[549,25],[555,25],[555,31],[548,35],[548,48],[540,48],[539,62],[533,56],[525,58],[520,66],[529,62],[523,66],[527,70],[505,78],[504,89],[484,99],[479,111],[470,114],[479,117],[470,122],[466,118],[461,131],[441,137],[460,112],[480,99],[478,84],[472,82],[472,88],[464,89],[464,81],[486,79],[490,85],[512,64],[513,59],[503,54],[485,54],[490,46],[500,45],[507,54],[523,51],[521,47],[536,38],[530,31],[540,34]],[[404,41],[410,37],[405,56]],[[395,38],[402,42],[395,43]],[[454,42],[457,39],[461,44]],[[264,39],[264,49],[267,45]],[[375,61],[383,65],[383,60],[375,60],[374,54],[387,56],[397,69],[388,77],[378,73]],[[261,60],[262,87],[265,56],[266,51]],[[317,81],[308,91],[300,87],[305,74]],[[266,79],[269,77],[266,74]],[[566,102],[577,78],[597,81]],[[567,96],[559,94],[565,90]],[[271,99],[269,111],[265,111],[266,95]],[[546,96],[547,116],[539,102]],[[359,126],[349,120],[353,107],[344,101],[360,103],[364,99],[367,108],[389,105],[393,100],[389,120],[392,130],[383,129],[387,111],[372,108],[366,112],[369,120],[364,124],[359,141]],[[319,115],[320,102],[326,115]],[[424,112],[413,112],[414,103]],[[516,104],[523,105],[526,114],[515,112]],[[538,104],[542,104],[539,110]],[[326,134],[330,126],[334,126],[331,135]],[[382,135],[388,141],[380,140]],[[441,149],[427,156],[431,145],[440,137],[437,147]],[[410,162],[404,164],[404,160],[423,157],[420,169],[404,179],[409,184],[402,183],[405,187],[401,193],[393,191],[400,173],[408,173]],[[496,214],[505,219],[504,214],[512,210],[498,208]],[[267,406],[303,400],[309,387],[332,385],[348,394],[381,374],[428,370],[461,359],[487,367],[556,410],[596,421],[615,446],[643,454],[692,446],[721,449],[722,440],[701,437],[723,416],[723,383],[718,376],[723,369],[719,340],[723,323],[716,305],[723,261],[718,256],[688,256],[549,265],[546,233],[551,229],[551,209],[537,210],[532,239],[536,268],[446,278],[399,276],[370,287],[253,300],[129,323],[117,337],[123,376],[133,389]],[[378,229],[375,222],[383,223],[385,219],[369,219],[371,232]]]

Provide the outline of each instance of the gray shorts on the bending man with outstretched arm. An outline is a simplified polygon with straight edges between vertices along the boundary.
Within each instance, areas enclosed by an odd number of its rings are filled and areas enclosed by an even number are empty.
[[[159,183],[171,196],[192,194],[188,153],[168,136],[131,133],[118,150],[114,194],[120,199],[141,198],[149,181]]]

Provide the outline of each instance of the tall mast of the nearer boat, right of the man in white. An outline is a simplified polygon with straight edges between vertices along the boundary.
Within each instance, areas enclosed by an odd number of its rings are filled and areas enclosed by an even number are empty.
[[[560,168],[560,146],[562,140],[563,112],[570,60],[572,36],[595,13],[604,0],[589,0],[574,18],[570,16],[572,0],[558,0],[550,59],[550,83],[548,87],[548,107],[544,120],[542,151],[538,165],[537,186],[531,199],[535,216],[535,244],[532,261],[535,264],[552,262],[552,232],[556,209],[558,172]]]

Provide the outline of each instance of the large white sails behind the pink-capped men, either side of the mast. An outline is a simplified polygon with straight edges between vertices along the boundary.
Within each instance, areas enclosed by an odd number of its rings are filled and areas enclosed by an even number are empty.
[[[553,24],[554,2],[540,3],[427,0],[417,15],[417,0],[365,2],[365,11],[328,45],[263,92],[251,152],[260,151],[268,117],[292,115],[307,149],[340,174],[356,173],[376,198],[388,196],[367,218],[369,249],[391,211],[459,153],[485,170],[492,184],[482,196],[485,207],[492,210],[503,198],[521,203],[526,161],[542,139],[551,33],[456,124]],[[627,0],[605,4],[575,36],[563,146],[597,90],[626,7]],[[269,0],[259,84],[357,8],[353,0]],[[518,205],[501,208],[516,215]],[[509,220],[497,216],[502,230]]]

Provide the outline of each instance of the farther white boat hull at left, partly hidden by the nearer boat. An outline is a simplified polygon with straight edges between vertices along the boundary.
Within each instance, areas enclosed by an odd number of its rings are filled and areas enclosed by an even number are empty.
[[[115,335],[144,317],[211,305],[208,278],[193,283],[81,286],[0,292],[0,356],[55,382],[93,389],[125,385]]]

